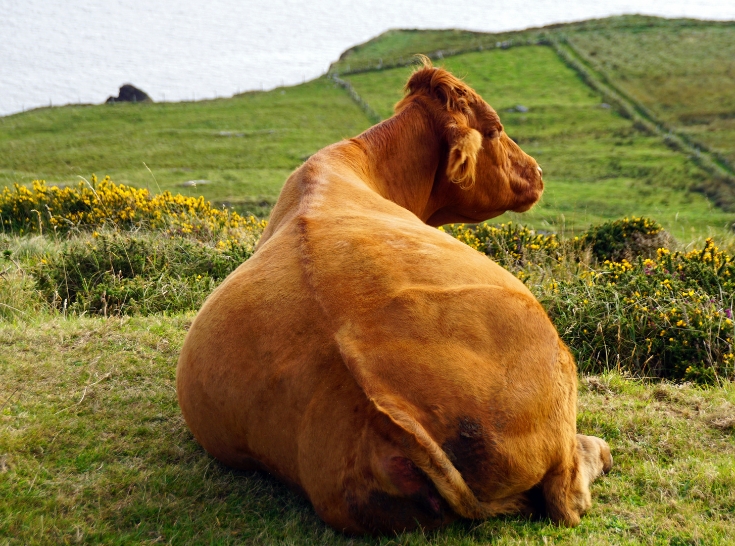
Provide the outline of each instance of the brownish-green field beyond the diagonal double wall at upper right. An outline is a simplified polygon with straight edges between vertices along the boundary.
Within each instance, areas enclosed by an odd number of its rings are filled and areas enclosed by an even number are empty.
[[[735,164],[735,24],[574,32],[567,41],[671,129]]]

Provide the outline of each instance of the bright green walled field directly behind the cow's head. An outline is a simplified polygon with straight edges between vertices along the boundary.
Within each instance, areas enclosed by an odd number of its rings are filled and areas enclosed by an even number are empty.
[[[544,169],[540,205],[509,215],[543,230],[572,232],[621,216],[652,216],[681,240],[725,227],[731,213],[692,191],[709,174],[610,108],[548,46],[519,46],[447,57],[445,68],[500,113],[508,132]],[[348,74],[380,116],[401,98],[411,68]],[[519,112],[517,106],[528,108]],[[509,111],[511,110],[511,111]]]

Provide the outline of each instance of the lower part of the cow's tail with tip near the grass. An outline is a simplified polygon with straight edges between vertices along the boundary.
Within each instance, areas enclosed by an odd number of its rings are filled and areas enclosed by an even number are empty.
[[[462,517],[485,518],[526,509],[526,502],[521,495],[490,502],[479,501],[444,450],[434,442],[416,419],[402,408],[396,407],[390,397],[371,397],[371,400],[379,411],[408,433],[408,442],[402,446],[406,455],[417,467],[426,472],[437,491],[457,514]]]

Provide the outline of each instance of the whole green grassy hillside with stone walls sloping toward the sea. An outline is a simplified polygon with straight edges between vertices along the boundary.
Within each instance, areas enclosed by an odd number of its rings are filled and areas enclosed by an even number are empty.
[[[348,50],[332,69],[354,85],[368,111],[385,118],[400,98],[412,54],[443,57],[435,62],[464,76],[544,168],[542,204],[517,219],[575,233],[605,219],[653,216],[687,242],[725,233],[732,223],[730,211],[696,192],[724,182],[686,150],[665,146],[660,135],[603,107],[600,93],[547,44],[552,36],[566,39],[641,107],[660,110],[661,118],[729,157],[734,28],[623,16],[495,35],[396,30]],[[707,82],[706,93],[699,82]],[[41,108],[0,118],[0,185],[36,178],[68,183],[96,172],[267,214],[304,158],[369,125],[365,110],[328,79],[214,101]],[[190,180],[205,182],[184,186]],[[734,191],[726,189],[728,196]]]

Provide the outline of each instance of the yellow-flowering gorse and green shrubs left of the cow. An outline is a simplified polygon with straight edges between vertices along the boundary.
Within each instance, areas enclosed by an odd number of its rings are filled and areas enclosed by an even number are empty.
[[[53,308],[103,314],[198,307],[250,257],[267,223],[202,197],[151,195],[95,176],[68,188],[38,180],[5,188],[0,215],[5,233],[66,238],[31,269]]]

